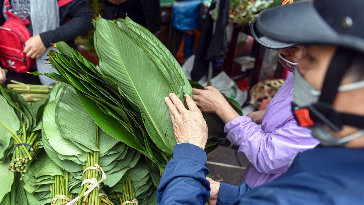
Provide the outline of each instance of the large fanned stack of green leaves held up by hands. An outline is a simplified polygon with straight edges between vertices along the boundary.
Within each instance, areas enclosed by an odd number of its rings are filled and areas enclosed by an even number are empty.
[[[131,19],[96,18],[94,27],[100,67],[58,42],[60,53],[51,51],[48,61],[59,75],[46,75],[72,85],[100,128],[163,170],[176,144],[164,97],[173,92],[185,104],[184,94],[193,96],[190,82],[167,48]]]

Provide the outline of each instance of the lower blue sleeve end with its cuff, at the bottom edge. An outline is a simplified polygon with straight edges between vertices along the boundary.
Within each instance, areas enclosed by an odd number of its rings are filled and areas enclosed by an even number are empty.
[[[242,183],[240,186],[233,186],[221,182],[216,205],[232,204],[239,196],[250,190],[252,190],[252,187],[246,183]]]

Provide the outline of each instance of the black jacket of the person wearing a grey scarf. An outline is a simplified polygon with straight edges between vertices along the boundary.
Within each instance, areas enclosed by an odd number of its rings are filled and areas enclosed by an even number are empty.
[[[4,1],[0,0],[0,8]],[[92,28],[92,12],[86,0],[74,0],[59,9],[60,27],[55,30],[40,34],[44,46],[51,43],[65,41],[68,45],[77,49],[74,39]],[[67,22],[67,19],[70,19]],[[0,26],[5,23],[4,15],[0,15]]]

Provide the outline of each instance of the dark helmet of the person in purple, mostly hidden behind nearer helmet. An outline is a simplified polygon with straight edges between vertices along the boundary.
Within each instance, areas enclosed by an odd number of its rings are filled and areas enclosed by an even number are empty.
[[[283,0],[280,5],[288,5],[288,4],[293,3],[294,1],[298,1],[298,0]],[[270,39],[267,36],[262,35],[260,32],[257,31],[256,20],[257,19],[254,19],[252,21],[252,23],[250,23],[250,31],[252,32],[252,36],[254,37],[254,39],[260,45],[262,45],[268,49],[286,49],[286,48],[297,45],[297,43],[284,43],[284,42]]]

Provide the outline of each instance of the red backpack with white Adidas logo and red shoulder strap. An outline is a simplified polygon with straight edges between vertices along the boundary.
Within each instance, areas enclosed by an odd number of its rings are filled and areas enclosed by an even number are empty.
[[[59,0],[62,7],[73,0]],[[31,37],[27,29],[28,19],[21,19],[12,12],[9,0],[4,0],[5,14],[8,20],[0,27],[0,61],[3,66],[17,73],[26,73],[35,65],[35,59],[27,57],[23,52],[25,42]]]

